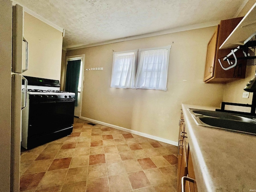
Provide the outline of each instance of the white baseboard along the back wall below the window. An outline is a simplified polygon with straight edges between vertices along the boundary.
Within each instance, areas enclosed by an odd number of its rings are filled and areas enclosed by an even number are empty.
[[[172,141],[172,140],[168,140],[168,139],[164,139],[164,138],[161,138],[161,137],[153,136],[153,135],[150,135],[150,134],[146,134],[146,133],[130,130],[130,129],[127,129],[127,128],[124,128],[124,127],[108,124],[108,123],[105,123],[105,122],[97,121],[97,120],[86,118],[86,117],[80,117],[80,118],[83,119],[83,120],[86,120],[86,121],[90,121],[90,122],[94,122],[94,123],[100,124],[100,125],[104,125],[104,126],[108,126],[108,127],[111,127],[111,128],[115,128],[117,130],[125,131],[125,132],[132,133],[132,134],[135,134],[135,135],[139,135],[139,136],[142,136],[142,137],[154,139],[154,140],[157,140],[157,141],[160,141],[160,142],[163,142],[163,143],[168,143],[168,144],[171,144],[171,145],[174,145],[174,146],[178,146],[178,142],[175,142],[175,141]]]

